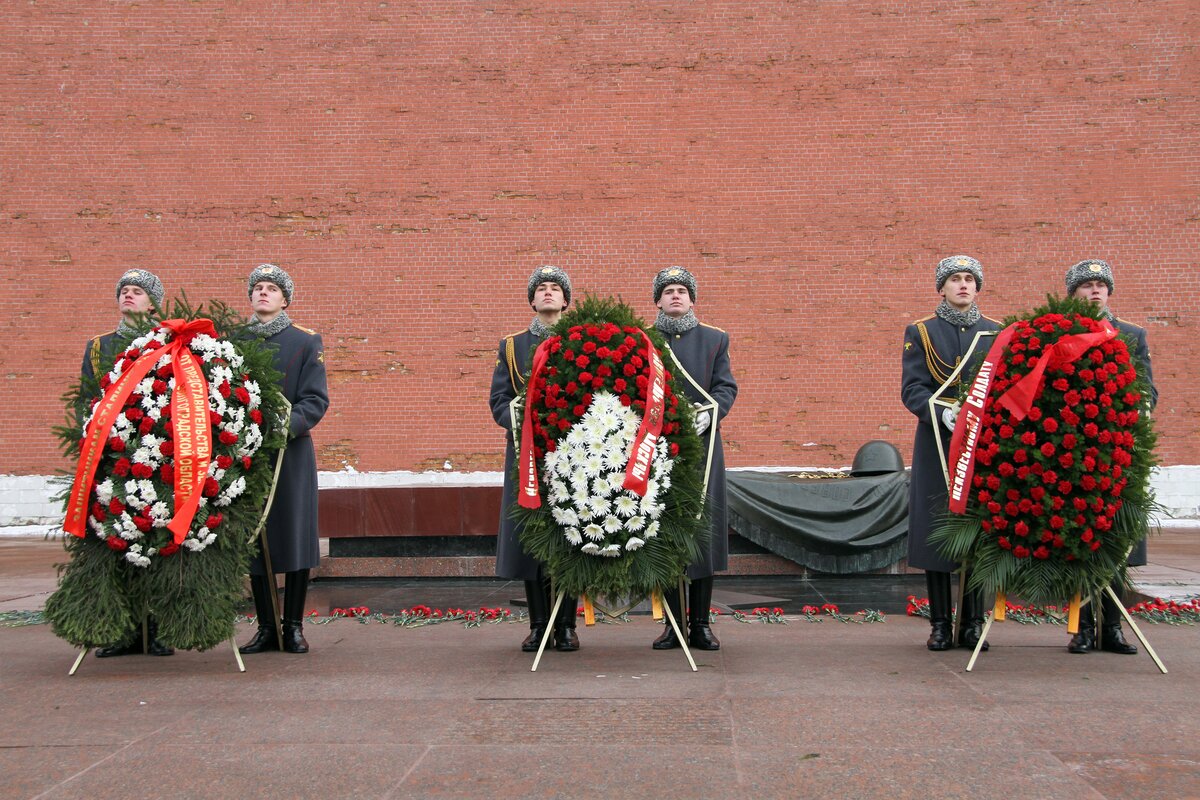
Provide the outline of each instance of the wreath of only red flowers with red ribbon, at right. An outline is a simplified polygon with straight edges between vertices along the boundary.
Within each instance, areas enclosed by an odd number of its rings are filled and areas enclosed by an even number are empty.
[[[1148,391],[1091,303],[1049,299],[1004,321],[964,383],[932,541],[973,585],[1058,602],[1108,584],[1148,531]]]

